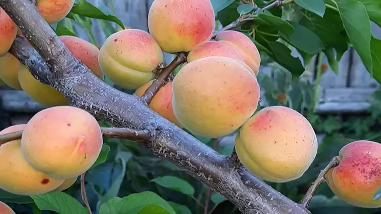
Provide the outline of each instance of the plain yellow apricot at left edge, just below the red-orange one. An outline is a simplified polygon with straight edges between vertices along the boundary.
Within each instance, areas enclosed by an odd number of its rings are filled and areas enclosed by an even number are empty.
[[[19,82],[18,71],[20,61],[14,55],[7,52],[0,56],[0,78],[10,87],[17,90],[22,90]]]

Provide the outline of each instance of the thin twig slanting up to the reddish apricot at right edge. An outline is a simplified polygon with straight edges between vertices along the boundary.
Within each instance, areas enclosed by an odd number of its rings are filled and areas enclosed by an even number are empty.
[[[312,199],[312,195],[315,193],[317,187],[322,183],[325,182],[326,179],[324,177],[325,173],[327,171],[339,164],[340,160],[338,156],[334,156],[331,161],[329,161],[328,165],[325,166],[323,170],[320,171],[319,175],[315,179],[313,183],[311,183],[310,187],[308,188],[306,194],[303,196],[302,200],[300,200],[300,204],[302,204],[304,207],[308,208],[309,202]]]

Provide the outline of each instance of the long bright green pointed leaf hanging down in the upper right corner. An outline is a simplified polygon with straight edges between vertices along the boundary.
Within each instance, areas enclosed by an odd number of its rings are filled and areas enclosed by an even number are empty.
[[[336,0],[335,3],[353,48],[372,75],[370,20],[364,4],[356,0]]]

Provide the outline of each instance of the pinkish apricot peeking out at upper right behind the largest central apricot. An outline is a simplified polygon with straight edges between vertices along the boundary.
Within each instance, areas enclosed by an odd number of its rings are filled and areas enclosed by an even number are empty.
[[[258,73],[261,56],[254,42],[244,33],[236,30],[226,30],[217,34],[216,40],[222,41],[232,47],[242,56],[246,64]]]

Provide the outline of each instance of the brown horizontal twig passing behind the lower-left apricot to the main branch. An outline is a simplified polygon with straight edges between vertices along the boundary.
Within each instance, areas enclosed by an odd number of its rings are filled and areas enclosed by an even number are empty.
[[[130,139],[135,141],[147,141],[151,135],[148,130],[135,130],[131,128],[101,127],[103,136],[110,138]],[[6,142],[21,139],[23,130],[0,135],[0,145]]]

